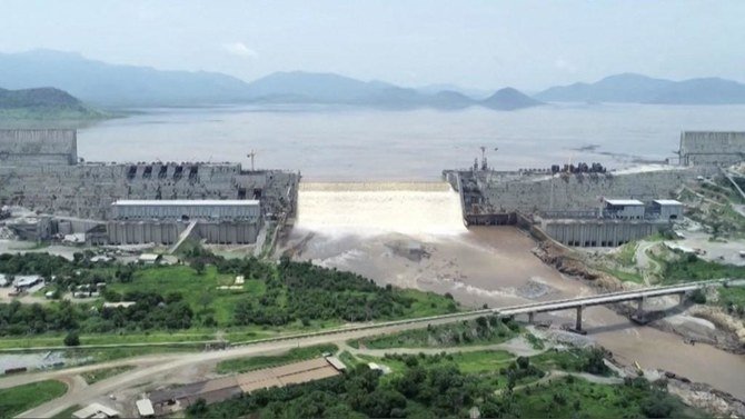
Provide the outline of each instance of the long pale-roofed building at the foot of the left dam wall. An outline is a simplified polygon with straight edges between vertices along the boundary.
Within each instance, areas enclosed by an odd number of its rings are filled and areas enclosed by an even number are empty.
[[[112,204],[116,220],[245,220],[258,222],[258,200],[117,200]]]

